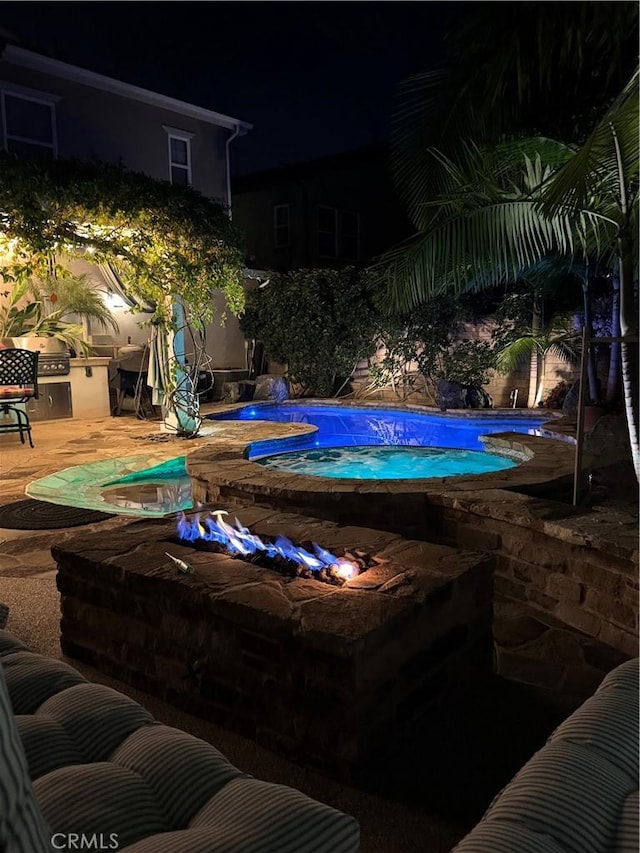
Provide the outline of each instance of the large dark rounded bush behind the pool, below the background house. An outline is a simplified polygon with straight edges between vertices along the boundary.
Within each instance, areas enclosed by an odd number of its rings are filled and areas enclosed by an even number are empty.
[[[302,394],[321,397],[341,390],[373,353],[379,324],[368,277],[353,267],[273,273],[248,294],[240,320]]]

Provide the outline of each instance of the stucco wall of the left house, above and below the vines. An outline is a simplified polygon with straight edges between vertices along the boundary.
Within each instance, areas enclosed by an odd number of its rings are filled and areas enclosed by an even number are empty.
[[[28,53],[28,52],[23,52]],[[34,55],[32,55],[34,56]],[[38,58],[36,57],[36,60]],[[27,64],[29,63],[27,56]],[[47,60],[45,60],[45,63]],[[53,63],[55,68],[56,63]],[[60,65],[58,65],[60,67]],[[215,120],[198,117],[207,112],[193,105],[183,104],[184,111],[171,109],[171,99],[163,99],[162,105],[146,103],[134,97],[134,90],[128,97],[125,92],[118,94],[106,91],[90,82],[67,79],[71,76],[83,76],[82,69],[64,65],[61,75],[53,71],[26,67],[20,60],[0,57],[0,89],[15,92],[16,95],[40,94],[43,100],[55,104],[56,153],[62,158],[80,160],[97,159],[103,162],[122,164],[131,171],[144,172],[156,180],[170,180],[168,132],[165,128],[176,130],[190,136],[191,178],[194,189],[203,195],[223,203],[228,201],[227,184],[227,141],[234,133],[234,119],[220,117],[221,124]],[[91,75],[88,75],[91,78]],[[106,78],[103,78],[106,80]],[[116,88],[126,85],[117,81]],[[135,90],[141,91],[141,90]],[[147,93],[153,101],[154,93]],[[176,102],[178,104],[178,102]],[[193,114],[195,113],[195,115]],[[209,113],[213,119],[217,114]],[[216,119],[217,120],[217,119]],[[0,145],[3,142],[0,126]],[[116,319],[119,331],[95,326],[87,327],[87,333],[100,336],[108,350],[111,338],[114,346],[126,343],[144,345],[149,330],[140,324],[149,318],[148,314],[131,313],[122,300],[107,296],[107,284],[100,269],[84,262],[74,262],[72,269],[76,273],[86,274],[96,288],[103,291],[105,301]],[[0,300],[2,295],[0,294]],[[216,320],[206,332],[206,351],[215,368],[244,368],[245,343],[237,318],[227,316],[224,327],[220,326],[220,317],[224,313],[224,298],[219,292],[215,297]],[[188,342],[187,342],[188,346]]]

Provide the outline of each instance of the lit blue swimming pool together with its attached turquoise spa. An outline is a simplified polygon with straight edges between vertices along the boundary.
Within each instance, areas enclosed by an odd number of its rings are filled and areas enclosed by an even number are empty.
[[[305,435],[249,445],[245,454],[248,459],[279,471],[318,477],[406,479],[488,473],[513,467],[513,460],[484,452],[480,436],[496,432],[539,435],[539,427],[549,420],[549,415],[486,410],[460,415],[305,402],[253,404],[210,415],[210,419],[266,420],[316,427]]]

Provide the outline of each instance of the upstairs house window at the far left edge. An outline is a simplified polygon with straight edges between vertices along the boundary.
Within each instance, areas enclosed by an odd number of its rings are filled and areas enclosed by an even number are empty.
[[[56,156],[55,105],[50,101],[2,92],[6,151],[46,160]]]

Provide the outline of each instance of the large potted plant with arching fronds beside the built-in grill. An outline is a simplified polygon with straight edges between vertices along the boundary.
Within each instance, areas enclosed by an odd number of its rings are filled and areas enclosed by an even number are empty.
[[[20,278],[2,295],[6,302],[0,307],[0,339],[10,339],[23,349],[68,349],[77,355],[90,355],[82,323],[72,317],[118,330],[114,317],[85,275],[67,273],[62,278],[52,276],[43,281]]]

